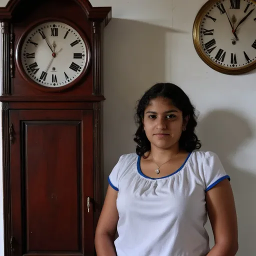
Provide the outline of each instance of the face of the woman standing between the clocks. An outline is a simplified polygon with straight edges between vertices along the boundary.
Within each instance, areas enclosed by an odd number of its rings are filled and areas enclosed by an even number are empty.
[[[170,99],[151,99],[144,111],[144,130],[151,147],[168,149],[178,143],[183,121],[182,112],[171,104]]]

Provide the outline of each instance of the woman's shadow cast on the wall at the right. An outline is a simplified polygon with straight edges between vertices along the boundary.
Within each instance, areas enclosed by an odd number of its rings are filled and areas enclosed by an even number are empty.
[[[239,250],[237,256],[256,254],[256,175],[238,169],[228,158],[235,155],[239,146],[245,144],[252,136],[252,131],[241,116],[227,110],[208,113],[199,121],[198,137],[202,149],[218,154],[234,193],[238,221]],[[211,239],[213,240],[212,233]]]

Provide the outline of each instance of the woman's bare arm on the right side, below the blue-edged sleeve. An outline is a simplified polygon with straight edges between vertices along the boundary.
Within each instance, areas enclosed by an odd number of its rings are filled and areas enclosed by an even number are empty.
[[[206,192],[206,207],[215,241],[206,256],[234,256],[238,250],[237,218],[227,179]]]

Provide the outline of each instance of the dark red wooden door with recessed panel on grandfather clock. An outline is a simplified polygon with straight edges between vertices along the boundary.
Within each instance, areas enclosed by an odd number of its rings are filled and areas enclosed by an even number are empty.
[[[11,124],[13,255],[93,255],[92,110],[10,110]]]

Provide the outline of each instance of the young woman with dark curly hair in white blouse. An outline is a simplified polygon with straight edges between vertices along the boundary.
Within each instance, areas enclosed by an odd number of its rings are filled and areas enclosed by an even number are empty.
[[[199,150],[187,95],[174,84],[155,84],[139,100],[136,121],[136,153],[121,155],[108,177],[97,256],[235,255],[230,178],[215,153]]]

